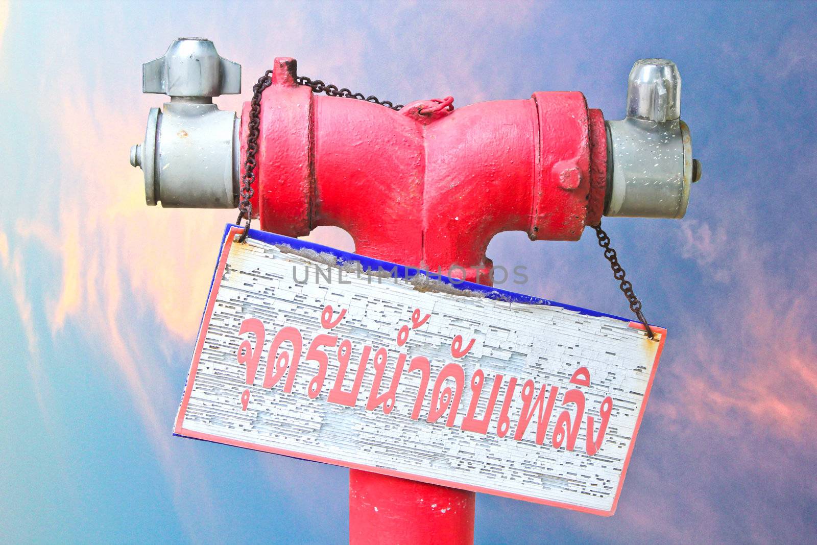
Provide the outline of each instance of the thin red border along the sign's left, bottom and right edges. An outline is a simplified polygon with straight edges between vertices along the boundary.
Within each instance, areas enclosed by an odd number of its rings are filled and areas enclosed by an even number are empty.
[[[212,288],[210,288],[210,295],[208,297],[207,308],[204,311],[204,316],[202,319],[201,327],[199,328],[199,338],[196,340],[196,349],[193,354],[193,361],[190,364],[190,373],[187,376],[187,385],[185,386],[185,395],[182,397],[181,406],[179,407],[179,413],[176,416],[176,425],[173,427],[173,433],[177,436],[185,436],[191,437],[193,439],[200,439],[206,441],[212,441],[214,443],[219,444],[228,444],[230,446],[235,447],[242,447],[243,449],[252,449],[258,450],[261,452],[266,453],[273,453],[273,454],[282,454],[283,456],[289,456],[292,458],[301,458],[304,460],[311,460],[312,462],[323,462],[329,463],[333,466],[341,466],[341,467],[349,467],[350,469],[359,469],[363,471],[371,471],[373,473],[379,473],[381,475],[387,475],[392,477],[400,477],[401,479],[410,479],[410,480],[418,480],[424,483],[429,483],[431,485],[440,485],[440,486],[448,486],[449,488],[455,489],[463,489],[463,490],[470,490],[471,492],[480,492],[483,494],[492,494],[494,496],[502,496],[503,498],[511,498],[511,499],[520,499],[526,502],[533,502],[539,503],[542,505],[548,505],[551,507],[562,507],[565,509],[570,509],[572,511],[581,511],[584,513],[591,513],[593,515],[600,515],[600,516],[612,516],[618,507],[618,498],[621,495],[621,490],[624,485],[624,478],[627,476],[627,468],[630,466],[630,458],[632,456],[632,449],[636,444],[636,436],[638,436],[638,430],[641,427],[641,418],[644,418],[644,411],[647,406],[647,400],[650,399],[650,390],[653,386],[653,380],[655,377],[655,371],[658,369],[659,366],[659,359],[661,358],[661,351],[663,350],[664,341],[667,338],[667,330],[665,328],[659,328],[654,325],[650,325],[650,328],[653,329],[656,333],[661,333],[661,340],[659,341],[659,348],[658,351],[655,353],[655,361],[653,364],[652,373],[650,373],[650,380],[647,382],[647,389],[644,392],[644,402],[641,404],[641,411],[638,413],[638,419],[636,420],[636,427],[633,429],[632,432],[632,439],[630,440],[630,448],[627,450],[627,458],[624,458],[624,466],[622,467],[621,471],[621,479],[618,480],[618,489],[615,493],[615,498],[613,499],[613,506],[610,508],[609,511],[605,511],[603,509],[593,509],[591,507],[582,507],[578,505],[573,505],[571,503],[561,503],[561,502],[554,502],[548,499],[542,498],[532,498],[530,496],[525,496],[522,494],[513,494],[511,492],[506,492],[503,490],[497,489],[489,489],[482,486],[475,486],[475,485],[467,485],[464,483],[458,483],[451,480],[442,480],[442,479],[435,479],[433,477],[422,476],[422,475],[414,475],[413,473],[406,473],[404,471],[394,471],[391,469],[385,469],[382,467],[373,467],[367,466],[364,464],[353,463],[353,462],[343,462],[342,460],[336,460],[333,458],[324,458],[323,456],[315,456],[312,454],[305,454],[305,453],[298,453],[292,450],[286,449],[276,449],[274,447],[269,447],[263,444],[255,444],[255,443],[248,443],[247,441],[241,440],[234,440],[228,439],[225,437],[220,436],[212,436],[208,433],[202,433],[200,431],[192,431],[187,430],[183,426],[183,422],[185,420],[185,414],[187,413],[187,405],[190,403],[190,395],[193,393],[193,381],[196,376],[196,371],[199,369],[199,360],[201,359],[201,353],[204,346],[204,339],[207,337],[208,326],[210,324],[210,317],[212,316],[212,310],[216,305],[216,295],[218,293],[218,289],[221,287],[221,279],[224,276],[224,270],[227,266],[227,257],[230,255],[230,247],[233,244],[235,239],[235,235],[238,235],[243,228],[241,227],[234,227],[231,229],[227,236],[225,237],[224,247],[221,249],[221,257],[218,261],[218,266],[216,269],[216,275],[213,278]],[[636,322],[630,322],[629,327],[634,329],[641,329],[644,330],[644,324],[638,324]],[[645,341],[648,342],[648,341]]]

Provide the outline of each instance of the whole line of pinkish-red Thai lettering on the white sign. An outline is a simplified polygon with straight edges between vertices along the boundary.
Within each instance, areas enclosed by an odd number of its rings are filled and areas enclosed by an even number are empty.
[[[334,328],[342,322],[345,316],[346,309],[341,309],[336,315],[333,307],[326,305],[320,315],[321,327],[324,329]],[[411,316],[411,324],[404,324],[398,329],[395,339],[397,346],[404,346],[406,342],[408,342],[408,337],[413,329],[422,327],[430,317],[430,315],[422,315],[419,309],[414,309]],[[266,339],[265,326],[260,319],[244,319],[239,327],[239,336],[243,338],[239,343],[235,357],[240,365],[245,366],[244,382],[247,385],[252,385],[255,381],[261,355],[263,355],[264,351]],[[457,359],[463,358],[471,351],[474,344],[474,338],[471,338],[466,345],[462,335],[456,335],[451,340],[451,355]],[[301,362],[301,351],[303,351],[303,348],[304,338],[299,329],[292,326],[281,328],[273,338],[270,344],[270,350],[267,353],[266,369],[264,370],[262,386],[264,388],[273,388],[281,382],[284,375],[286,375],[283,392],[291,393],[295,377],[297,376],[298,365]],[[389,367],[389,352],[386,347],[378,348],[374,355],[372,355],[372,351],[374,350],[373,346],[363,346],[357,369],[355,369],[352,385],[350,390],[346,391],[344,389],[344,382],[346,382],[346,375],[349,373],[352,360],[352,342],[349,339],[342,339],[337,335],[319,333],[310,342],[309,348],[306,351],[306,357],[304,358],[307,362],[315,362],[318,367],[315,375],[311,377],[306,387],[307,395],[313,400],[319,397],[321,391],[323,391],[324,382],[326,382],[329,367],[329,354],[328,351],[326,351],[328,348],[335,349],[338,364],[337,376],[334,377],[333,386],[328,392],[328,403],[355,407],[358,402],[363,379],[368,369],[368,362],[372,360],[375,373],[372,387],[368,392],[368,399],[366,400],[366,410],[374,411],[378,407],[381,407],[383,414],[391,414],[391,411],[395,408],[400,379],[403,376],[406,361],[409,360],[408,355],[404,352],[400,352],[397,355],[393,371],[389,373],[389,371],[387,371]],[[417,394],[415,395],[410,415],[412,420],[418,420],[420,418],[420,413],[426,401],[426,394],[429,391],[431,383],[431,362],[428,358],[422,355],[411,358],[407,373],[413,373],[415,371],[418,371],[420,376]],[[569,382],[575,386],[589,387],[591,382],[590,374],[590,370],[587,369],[587,367],[579,367],[574,371]],[[440,418],[445,417],[444,426],[454,426],[462,402],[465,378],[465,371],[461,364],[449,363],[444,365],[434,380],[426,422],[433,424],[439,421]],[[506,437],[511,431],[511,409],[515,399],[516,386],[520,380],[521,379],[517,377],[508,378],[495,430],[499,438]],[[482,400],[482,392],[485,389],[485,373],[483,369],[475,369],[469,382],[471,400],[468,404],[465,417],[462,418],[462,423],[460,424],[462,430],[471,431],[480,435],[488,434],[503,382],[504,377],[502,374],[497,373],[493,377],[493,383],[490,393],[487,396],[484,413],[482,416],[478,416],[477,411],[480,406],[480,400]],[[387,387],[386,383],[388,383]],[[386,390],[381,391],[382,387],[386,387]],[[540,445],[544,444],[547,431],[550,429],[551,416],[553,416],[555,410],[559,391],[559,386],[551,385],[548,388],[545,384],[542,384],[537,391],[534,380],[529,379],[525,381],[520,391],[522,408],[516,421],[516,431],[513,435],[514,440],[524,440],[530,422],[534,420],[535,416],[535,443]],[[249,389],[245,389],[242,392],[240,399],[242,410],[247,410],[250,400]],[[578,387],[565,391],[560,401],[559,414],[556,417],[556,424],[551,434],[551,446],[554,449],[560,449],[564,446],[565,450],[573,451],[578,441],[583,419],[585,419],[587,430],[585,447],[587,454],[590,456],[596,455],[605,442],[605,436],[612,413],[613,399],[608,395],[601,401],[597,417],[599,420],[598,430],[596,430],[596,418],[592,416],[592,411],[587,409],[585,393]]]

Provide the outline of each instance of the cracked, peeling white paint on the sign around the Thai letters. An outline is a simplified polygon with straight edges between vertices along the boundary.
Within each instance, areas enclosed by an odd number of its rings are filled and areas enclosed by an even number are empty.
[[[643,333],[621,320],[581,315],[556,306],[436,293],[428,288],[417,289],[410,280],[379,284],[368,282],[366,275],[359,279],[347,275],[345,280],[350,284],[315,284],[310,280],[297,283],[292,279],[293,266],[314,265],[314,259],[324,264],[329,261],[326,256],[312,254],[307,257],[305,252],[252,239],[231,247],[221,286],[212,295],[212,318],[178,433],[207,434],[210,440],[226,444],[242,442],[259,449],[300,453],[305,458],[400,471],[419,480],[490,489],[542,503],[597,511],[612,508],[658,343],[646,342]],[[431,384],[418,420],[410,418],[419,388],[416,372],[404,371],[391,414],[384,414],[382,408],[365,409],[373,383],[371,363],[355,407],[328,403],[328,391],[338,370],[331,349],[327,350],[324,387],[315,399],[307,395],[307,385],[317,366],[303,358],[291,393],[282,391],[283,382],[271,389],[261,387],[260,379],[250,385],[245,382],[246,366],[236,360],[239,344],[247,338],[239,336],[243,319],[257,317],[266,326],[266,345],[257,372],[258,377],[263,377],[275,333],[285,325],[297,327],[303,333],[306,355],[310,340],[326,333],[319,315],[327,304],[347,310],[346,317],[332,330],[353,346],[352,363],[343,383],[345,390],[350,390],[361,347],[366,343],[389,350],[387,369],[394,369],[398,351],[407,353],[409,359],[425,355],[431,361]],[[402,325],[410,324],[415,308],[431,314],[431,319],[412,330],[408,342],[398,349],[397,332]],[[434,377],[444,364],[454,360],[451,340],[458,334],[475,338],[476,342],[467,355],[456,360],[467,382],[454,426],[446,427],[445,418],[430,423],[426,415]],[[582,366],[591,373],[589,387],[569,383],[574,371]],[[469,409],[468,383],[475,369],[483,370],[486,382],[477,402],[477,416],[484,414],[489,385],[496,374],[501,373],[506,382],[507,377],[520,380],[510,405],[511,432],[505,437],[496,433],[499,407],[493,411],[487,435],[460,427]],[[391,373],[387,377],[381,391],[386,390]],[[522,406],[520,390],[527,379],[533,379],[537,386],[560,388],[544,444],[534,442],[535,417],[522,440],[513,439]],[[551,444],[556,416],[563,410],[561,393],[576,387],[587,400],[586,414],[592,414],[596,422],[600,400],[605,395],[614,399],[605,441],[595,456],[584,452],[584,425],[578,435],[579,446],[573,451],[564,446],[556,449]],[[240,401],[245,389],[251,393],[246,411]],[[575,409],[570,405],[569,410]]]

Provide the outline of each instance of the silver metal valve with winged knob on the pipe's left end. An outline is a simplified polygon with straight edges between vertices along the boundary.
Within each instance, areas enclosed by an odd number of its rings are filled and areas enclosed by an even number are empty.
[[[178,38],[142,65],[142,92],[171,101],[151,108],[145,141],[131,164],[145,172],[145,201],[169,208],[235,208],[239,195],[239,125],[213,96],[241,92],[241,65],[205,38]]]

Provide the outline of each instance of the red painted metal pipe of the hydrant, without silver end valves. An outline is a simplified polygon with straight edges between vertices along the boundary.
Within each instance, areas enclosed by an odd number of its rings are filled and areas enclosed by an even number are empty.
[[[400,112],[315,96],[275,59],[261,101],[253,211],[281,235],[338,226],[355,251],[489,284],[494,235],[578,240],[601,219],[607,147],[580,92]],[[248,104],[242,116],[246,145]],[[456,272],[457,270],[454,270]],[[352,543],[472,543],[474,494],[350,471]]]

